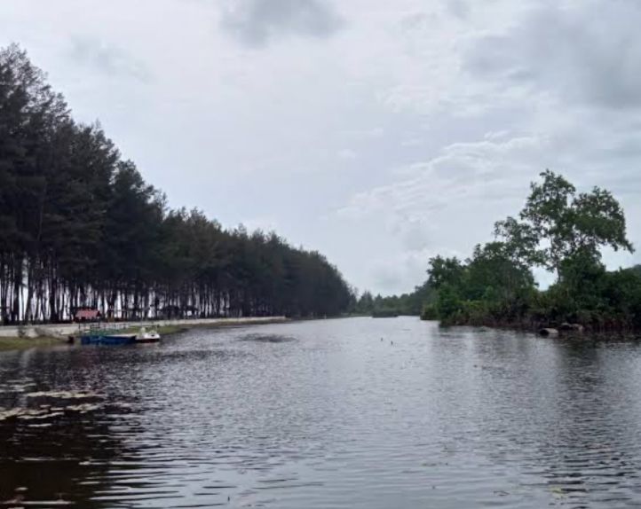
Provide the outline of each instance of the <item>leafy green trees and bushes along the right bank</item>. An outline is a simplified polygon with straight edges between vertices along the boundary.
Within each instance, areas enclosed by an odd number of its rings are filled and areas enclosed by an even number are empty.
[[[415,294],[381,298],[379,306],[396,301],[400,313],[414,314],[420,299],[422,317],[442,325],[641,330],[641,266],[608,271],[601,261],[603,247],[633,251],[621,205],[603,189],[577,193],[563,176],[541,176],[518,217],[495,224],[494,241],[475,247],[465,261],[432,258],[429,278]],[[556,275],[545,291],[534,281],[536,267]]]

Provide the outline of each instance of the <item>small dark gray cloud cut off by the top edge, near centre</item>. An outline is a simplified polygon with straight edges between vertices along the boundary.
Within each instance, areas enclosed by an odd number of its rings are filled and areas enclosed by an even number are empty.
[[[240,0],[227,7],[222,17],[229,33],[255,47],[283,35],[328,37],[342,24],[324,0]]]

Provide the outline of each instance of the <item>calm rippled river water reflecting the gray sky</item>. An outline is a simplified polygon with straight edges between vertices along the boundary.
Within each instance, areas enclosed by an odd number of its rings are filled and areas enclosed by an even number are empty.
[[[0,506],[641,507],[637,342],[192,331],[0,354],[0,407]]]

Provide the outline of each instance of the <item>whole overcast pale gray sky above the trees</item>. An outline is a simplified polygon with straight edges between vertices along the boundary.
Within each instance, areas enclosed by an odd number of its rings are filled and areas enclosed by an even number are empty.
[[[638,27],[637,0],[0,7],[0,45],[20,43],[172,207],[275,230],[381,294],[492,239],[546,168],[612,191],[641,248]]]

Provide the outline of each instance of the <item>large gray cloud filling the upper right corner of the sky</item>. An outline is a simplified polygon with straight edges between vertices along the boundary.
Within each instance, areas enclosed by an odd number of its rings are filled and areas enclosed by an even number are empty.
[[[533,88],[570,104],[641,106],[641,4],[543,4],[505,35],[484,35],[466,55],[472,74]]]

